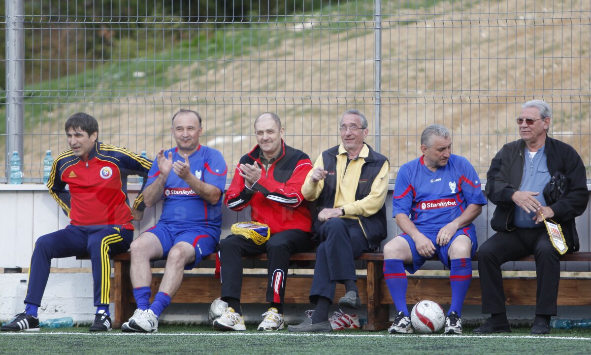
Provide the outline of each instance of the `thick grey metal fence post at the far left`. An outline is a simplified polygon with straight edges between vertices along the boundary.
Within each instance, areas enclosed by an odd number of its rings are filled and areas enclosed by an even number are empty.
[[[23,93],[24,67],[24,5],[22,0],[7,0],[6,4],[6,178],[10,175],[10,157],[17,150],[24,161],[22,134],[24,133]]]

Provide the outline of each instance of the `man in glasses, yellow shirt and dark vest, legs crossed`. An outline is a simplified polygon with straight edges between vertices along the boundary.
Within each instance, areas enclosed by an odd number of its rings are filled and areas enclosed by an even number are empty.
[[[290,331],[332,331],[328,312],[337,283],[346,290],[339,306],[361,308],[353,259],[377,249],[387,235],[388,159],[363,141],[368,122],[358,110],[345,112],[339,130],[342,144],[318,157],[301,188],[304,198],[317,201],[313,230],[321,243],[310,290],[316,308]]]

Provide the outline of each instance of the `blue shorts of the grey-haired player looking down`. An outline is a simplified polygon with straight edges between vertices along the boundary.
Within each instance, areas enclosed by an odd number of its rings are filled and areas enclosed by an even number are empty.
[[[476,253],[476,249],[478,249],[478,239],[476,239],[476,227],[472,223],[466,225],[466,227],[457,230],[456,234],[453,235],[452,240],[450,240],[449,243],[447,243],[443,247],[439,244],[436,244],[437,233],[439,233],[439,231],[436,231],[435,233],[425,233],[424,231],[419,231],[433,242],[433,246],[435,246],[435,254],[437,255],[437,257],[439,257],[441,263],[444,264],[448,269],[450,268],[452,263],[449,260],[449,255],[447,254],[447,252],[449,251],[449,246],[452,245],[452,242],[457,238],[458,235],[467,235],[470,238],[470,241],[472,241],[472,250],[470,251],[470,257],[473,257],[474,253]],[[410,237],[410,235],[402,233],[400,234],[400,237],[404,238],[408,242],[410,251],[413,254],[413,263],[404,264],[404,269],[406,269],[409,273],[413,274],[417,272],[417,270],[420,270],[423,264],[431,258],[421,256],[418,253],[417,246],[415,246],[414,240]]]

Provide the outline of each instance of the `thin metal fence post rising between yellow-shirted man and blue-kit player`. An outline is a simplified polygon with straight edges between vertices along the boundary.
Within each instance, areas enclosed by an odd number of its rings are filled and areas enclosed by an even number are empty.
[[[374,15],[374,37],[375,37],[375,56],[374,56],[374,71],[375,71],[375,87],[374,87],[374,132],[375,141],[374,149],[381,151],[381,109],[382,109],[382,2],[375,0],[375,15]]]

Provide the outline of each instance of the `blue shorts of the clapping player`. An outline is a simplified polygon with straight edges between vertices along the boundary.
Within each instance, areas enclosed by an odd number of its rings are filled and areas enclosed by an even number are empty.
[[[211,234],[211,231],[205,228],[187,227],[186,225],[157,223],[154,227],[148,228],[145,232],[150,232],[160,240],[162,246],[162,258],[168,257],[168,252],[180,241],[191,244],[195,248],[195,262],[185,265],[185,270],[191,270],[199,262],[217,248],[217,238]],[[145,233],[144,232],[144,233]]]

